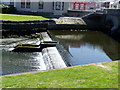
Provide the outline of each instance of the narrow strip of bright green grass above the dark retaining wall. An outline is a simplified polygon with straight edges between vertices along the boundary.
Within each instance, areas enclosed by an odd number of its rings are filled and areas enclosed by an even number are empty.
[[[0,20],[27,21],[27,20],[49,20],[49,18],[45,18],[42,16],[30,16],[30,15],[0,14]]]

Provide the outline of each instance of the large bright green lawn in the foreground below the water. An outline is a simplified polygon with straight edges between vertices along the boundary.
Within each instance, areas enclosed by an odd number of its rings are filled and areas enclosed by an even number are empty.
[[[118,88],[118,62],[3,76],[2,88]]]

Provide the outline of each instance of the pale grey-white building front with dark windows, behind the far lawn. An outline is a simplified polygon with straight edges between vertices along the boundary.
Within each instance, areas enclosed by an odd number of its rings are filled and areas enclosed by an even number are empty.
[[[42,13],[53,13],[54,15],[62,15],[66,13],[70,7],[70,3],[64,2],[63,0],[54,0],[53,2],[45,2],[43,0],[21,0],[16,2],[16,8],[18,11],[29,11],[29,12],[42,12]]]

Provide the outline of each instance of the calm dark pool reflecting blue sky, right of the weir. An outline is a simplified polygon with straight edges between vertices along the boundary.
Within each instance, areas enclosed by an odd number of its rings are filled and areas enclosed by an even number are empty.
[[[99,31],[50,31],[70,66],[119,60],[120,44]]]

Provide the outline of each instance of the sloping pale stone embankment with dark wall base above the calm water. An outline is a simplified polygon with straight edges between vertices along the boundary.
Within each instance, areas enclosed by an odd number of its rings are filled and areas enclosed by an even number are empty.
[[[56,24],[48,25],[48,30],[103,30],[104,26],[99,24],[87,24],[80,17],[60,17],[55,19]]]

